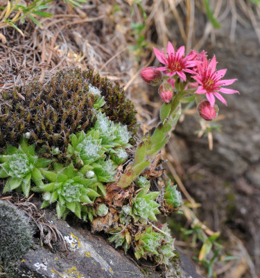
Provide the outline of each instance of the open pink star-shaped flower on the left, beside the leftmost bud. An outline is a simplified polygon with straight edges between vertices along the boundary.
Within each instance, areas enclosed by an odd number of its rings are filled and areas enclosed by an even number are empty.
[[[193,58],[196,57],[195,53],[190,53],[186,57],[184,57],[185,47],[180,47],[175,52],[173,48],[173,44],[168,42],[167,45],[167,56],[164,55],[164,49],[159,51],[159,49],[153,48],[155,51],[156,58],[165,65],[165,67],[157,67],[157,70],[162,71],[164,74],[168,76],[174,76],[177,74],[180,76],[181,81],[186,81],[185,73],[195,74],[195,72],[189,67],[195,67],[197,65],[196,61]]]

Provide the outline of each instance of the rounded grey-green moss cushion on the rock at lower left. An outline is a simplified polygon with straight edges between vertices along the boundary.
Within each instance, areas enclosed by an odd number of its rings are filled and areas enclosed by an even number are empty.
[[[28,218],[15,206],[0,200],[0,261],[9,267],[33,245],[33,229]]]

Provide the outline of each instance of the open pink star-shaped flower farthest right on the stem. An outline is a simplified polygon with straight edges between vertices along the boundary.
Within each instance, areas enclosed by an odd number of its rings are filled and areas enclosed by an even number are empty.
[[[216,71],[216,57],[214,56],[210,62],[206,57],[203,58],[202,63],[197,64],[198,72],[196,76],[192,76],[198,82],[198,89],[196,94],[206,94],[211,107],[214,107],[215,97],[218,98],[223,104],[227,105],[224,97],[219,92],[224,94],[234,94],[239,91],[222,88],[221,86],[231,85],[237,79],[223,79],[227,70]]]

